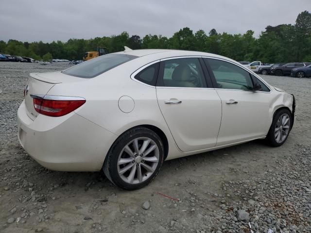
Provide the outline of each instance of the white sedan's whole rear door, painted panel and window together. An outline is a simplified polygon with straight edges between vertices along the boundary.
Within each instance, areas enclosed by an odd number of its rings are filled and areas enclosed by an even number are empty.
[[[156,96],[182,151],[216,145],[222,106],[215,89],[207,88],[211,81],[204,70],[206,67],[202,67],[197,57],[172,58],[160,63]]]

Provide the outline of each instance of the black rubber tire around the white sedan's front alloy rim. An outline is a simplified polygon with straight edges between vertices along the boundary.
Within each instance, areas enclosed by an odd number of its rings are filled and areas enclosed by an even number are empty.
[[[282,142],[277,142],[276,141],[276,134],[275,134],[275,131],[276,131],[276,127],[277,127],[277,121],[278,119],[282,116],[286,114],[288,117],[289,117],[289,120],[290,120],[290,123],[289,123],[289,131],[285,137],[285,139],[282,141]],[[281,109],[281,110],[278,110],[274,117],[273,117],[273,120],[272,120],[272,124],[270,126],[270,129],[269,129],[269,132],[267,134],[267,137],[266,137],[266,141],[268,142],[268,144],[272,147],[279,147],[281,145],[283,145],[283,143],[287,140],[288,138],[288,135],[290,134],[291,132],[291,129],[292,129],[292,124],[293,124],[293,119],[292,119],[292,113],[288,110],[288,109]]]

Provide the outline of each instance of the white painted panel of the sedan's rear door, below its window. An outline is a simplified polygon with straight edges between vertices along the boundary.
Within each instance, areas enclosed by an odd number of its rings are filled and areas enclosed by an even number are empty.
[[[202,150],[216,145],[222,106],[214,89],[157,87],[156,96],[180,150]],[[181,103],[167,104],[167,100]]]

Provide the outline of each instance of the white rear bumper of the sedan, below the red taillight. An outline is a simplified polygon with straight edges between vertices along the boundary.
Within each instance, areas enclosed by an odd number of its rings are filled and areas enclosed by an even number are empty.
[[[32,120],[25,102],[18,108],[18,139],[40,165],[58,171],[98,171],[118,137],[74,112]]]

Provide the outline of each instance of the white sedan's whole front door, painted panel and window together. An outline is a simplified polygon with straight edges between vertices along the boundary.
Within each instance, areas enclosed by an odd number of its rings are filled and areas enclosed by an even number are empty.
[[[265,136],[269,130],[270,90],[252,91],[257,78],[234,63],[204,59],[222,101],[222,122],[216,146]]]

